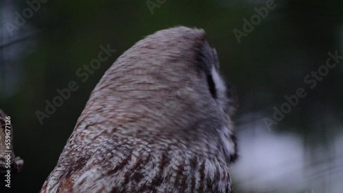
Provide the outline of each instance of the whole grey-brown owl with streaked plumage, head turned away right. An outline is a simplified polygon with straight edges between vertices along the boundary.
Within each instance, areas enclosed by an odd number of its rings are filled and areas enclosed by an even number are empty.
[[[232,192],[235,107],[204,31],[157,31],[93,90],[41,192]]]

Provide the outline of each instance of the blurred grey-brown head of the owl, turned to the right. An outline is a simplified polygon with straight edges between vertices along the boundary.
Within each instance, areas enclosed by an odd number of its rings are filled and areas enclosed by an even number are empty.
[[[118,140],[191,147],[199,155],[236,156],[233,89],[222,79],[202,29],[157,31],[125,51],[105,73],[79,118],[75,138],[91,138],[97,120]],[[87,129],[84,129],[87,128]]]

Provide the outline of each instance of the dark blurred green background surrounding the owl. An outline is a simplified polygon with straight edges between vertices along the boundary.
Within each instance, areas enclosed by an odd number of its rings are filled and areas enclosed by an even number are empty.
[[[47,1],[11,34],[8,23],[16,25],[15,13],[29,5],[1,1],[0,108],[11,116],[14,150],[25,162],[12,175],[12,188],[1,192],[38,192],[106,69],[134,42],[176,25],[206,31],[222,74],[237,90],[235,192],[342,191],[343,60],[313,89],[304,78],[326,64],[329,51],[343,55],[343,1],[275,1],[240,43],[233,30],[244,31],[243,19],[250,21],[266,1],[151,2],[161,3],[153,13],[147,1]],[[107,44],[117,51],[82,82],[76,70]],[[80,88],[41,125],[36,111],[44,112],[45,100],[69,81]],[[298,88],[307,96],[266,127],[273,107],[280,109]]]

